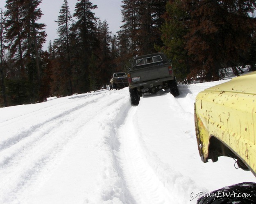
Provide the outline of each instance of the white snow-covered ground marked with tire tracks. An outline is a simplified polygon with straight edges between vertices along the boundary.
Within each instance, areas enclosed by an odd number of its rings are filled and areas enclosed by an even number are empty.
[[[231,158],[199,157],[195,97],[225,81],[145,94],[138,106],[125,88],[0,109],[0,203],[193,204],[256,182]]]

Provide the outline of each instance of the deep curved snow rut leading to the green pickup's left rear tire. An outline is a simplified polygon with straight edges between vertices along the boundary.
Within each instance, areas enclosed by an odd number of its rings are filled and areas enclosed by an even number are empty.
[[[125,124],[118,131],[121,135],[118,160],[125,185],[138,204],[171,203],[168,191],[143,156],[138,135],[132,124],[136,108],[132,107]]]

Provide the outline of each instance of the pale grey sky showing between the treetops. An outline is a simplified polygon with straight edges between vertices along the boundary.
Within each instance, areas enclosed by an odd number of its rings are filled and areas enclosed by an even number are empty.
[[[94,5],[97,5],[97,9],[93,12],[95,16],[100,18],[102,21],[106,20],[109,24],[109,31],[116,34],[121,26],[121,4],[122,0],[91,0]],[[75,4],[77,0],[68,0],[68,6],[71,14],[74,13]],[[45,31],[47,33],[47,41],[44,44],[44,49],[47,49],[49,41],[53,41],[58,37],[57,35],[57,23],[54,22],[58,19],[59,10],[63,0],[42,0],[40,8],[44,14],[39,22],[46,24]],[[5,10],[5,0],[0,0],[0,8]]]

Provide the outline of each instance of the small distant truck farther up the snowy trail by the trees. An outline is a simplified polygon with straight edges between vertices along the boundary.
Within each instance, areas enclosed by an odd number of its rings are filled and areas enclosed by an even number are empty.
[[[118,72],[113,73],[110,83],[109,90],[111,89],[123,89],[129,85],[126,73]]]

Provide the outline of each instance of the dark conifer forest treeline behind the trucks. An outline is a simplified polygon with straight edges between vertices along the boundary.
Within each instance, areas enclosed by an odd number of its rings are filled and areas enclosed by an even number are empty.
[[[179,82],[255,70],[256,0],[122,0],[117,35],[89,0],[63,0],[58,38],[46,42],[41,0],[6,0],[0,11],[0,106],[98,90],[136,55],[163,51]],[[119,11],[117,11],[119,12]]]

